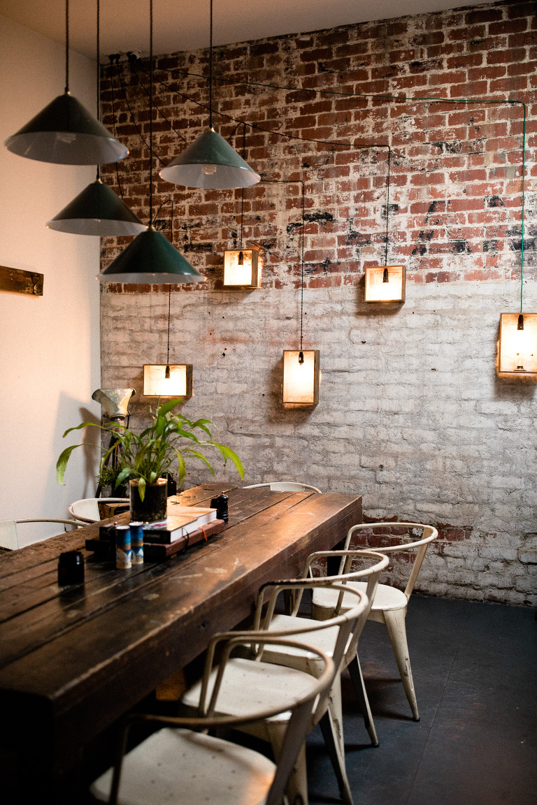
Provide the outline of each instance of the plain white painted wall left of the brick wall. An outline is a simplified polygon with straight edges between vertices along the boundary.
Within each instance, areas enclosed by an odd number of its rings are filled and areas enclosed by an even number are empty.
[[[74,52],[70,85],[95,108],[94,63]],[[62,47],[0,16],[0,140],[63,90]],[[69,502],[94,493],[95,451],[72,454],[63,487],[55,466],[74,444],[62,439],[66,428],[100,415],[91,400],[100,385],[99,241],[46,226],[94,175],[0,147],[0,265],[44,275],[42,297],[0,293],[0,519],[67,517]],[[21,542],[58,528],[21,526]]]

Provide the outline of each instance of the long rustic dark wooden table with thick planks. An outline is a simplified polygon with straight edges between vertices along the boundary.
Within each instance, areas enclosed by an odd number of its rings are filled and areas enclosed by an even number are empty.
[[[0,748],[19,769],[14,801],[52,798],[90,740],[250,615],[261,584],[296,576],[361,522],[353,494],[205,484],[181,502],[208,506],[221,491],[226,529],[162,564],[116,571],[85,551],[97,525],[0,556]],[[70,550],[85,553],[85,584],[58,588]]]

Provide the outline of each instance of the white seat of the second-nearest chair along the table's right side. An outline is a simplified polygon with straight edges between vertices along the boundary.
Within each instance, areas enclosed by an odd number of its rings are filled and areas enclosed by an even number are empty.
[[[215,668],[209,677],[207,703],[213,692],[216,676]],[[295,668],[271,663],[255,663],[251,659],[233,657],[225,666],[217,698],[216,715],[245,716],[252,710],[275,708],[280,702],[298,700],[306,691],[311,691],[315,684],[316,680],[312,675],[296,671]],[[200,692],[201,681],[196,682],[184,693],[181,701],[188,707],[197,708]],[[269,720],[288,721],[289,711],[272,716]]]

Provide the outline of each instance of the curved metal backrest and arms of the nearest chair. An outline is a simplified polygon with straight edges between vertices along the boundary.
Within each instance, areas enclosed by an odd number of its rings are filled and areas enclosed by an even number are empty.
[[[243,716],[214,716],[215,708],[217,707],[218,693],[221,688],[221,681],[225,672],[225,665],[229,660],[229,656],[234,648],[238,646],[250,646],[252,642],[258,642],[262,638],[266,644],[278,646],[289,646],[291,648],[304,649],[304,643],[300,643],[288,638],[279,638],[271,636],[267,638],[265,633],[258,632],[229,632],[227,634],[217,634],[213,638],[212,644],[216,645],[218,642],[225,641],[225,646],[221,652],[221,659],[218,664],[217,678],[215,680],[213,695],[209,708],[207,708],[207,715],[198,718],[174,718],[170,716],[153,716],[145,715],[143,713],[133,713],[127,716],[126,723],[122,732],[122,739],[118,750],[118,756],[114,765],[114,776],[112,778],[112,787],[110,790],[110,805],[117,805],[118,791],[121,780],[121,770],[123,756],[126,752],[126,744],[128,738],[128,731],[130,725],[134,722],[151,722],[151,724],[162,724],[171,727],[182,727],[194,730],[207,730],[217,729],[219,727],[234,727],[242,724],[248,724],[252,721],[265,720],[276,716],[281,712],[291,711],[291,718],[287,723],[283,745],[279,752],[276,762],[276,771],[274,779],[271,783],[271,788],[266,796],[263,805],[281,805],[287,780],[293,770],[296,760],[299,756],[299,751],[304,744],[306,733],[312,723],[312,712],[316,706],[316,701],[321,697],[328,696],[328,692],[332,687],[334,676],[336,674],[333,660],[323,654],[322,651],[310,646],[308,650],[317,654],[320,663],[323,664],[320,675],[316,673],[311,674],[313,681],[309,690],[304,692],[304,696],[296,698],[296,696],[289,696],[289,699],[284,701],[277,707],[265,708],[247,713]],[[207,663],[206,663],[207,667]],[[202,697],[206,696],[207,688],[202,690]],[[204,698],[200,699],[200,708],[204,708]],[[180,758],[178,758],[180,760]]]

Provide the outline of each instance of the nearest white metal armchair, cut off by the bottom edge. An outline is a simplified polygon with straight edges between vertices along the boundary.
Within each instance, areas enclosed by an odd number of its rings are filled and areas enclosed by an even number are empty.
[[[279,691],[271,704],[256,703],[255,697],[235,716],[215,716],[219,711],[222,686],[234,663],[231,651],[251,646],[258,633],[228,633],[213,638],[212,645],[225,641],[222,657],[215,669],[215,684],[209,702],[204,699],[197,718],[171,718],[135,713],[126,720],[114,770],[102,774],[90,791],[111,805],[281,805],[287,779],[312,722],[316,702],[322,700],[333,683],[333,661],[316,649],[320,674],[301,674],[299,685]],[[299,646],[290,639],[271,636],[278,646]],[[210,670],[210,669],[209,669]],[[204,688],[204,693],[207,688]],[[206,734],[210,728],[238,728],[250,721],[284,720],[285,731],[277,765],[264,755]],[[166,725],[141,744],[125,753],[130,725],[142,721]],[[203,730],[198,732],[195,730]]]

